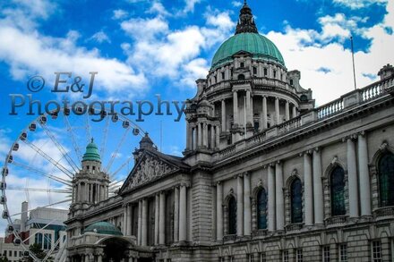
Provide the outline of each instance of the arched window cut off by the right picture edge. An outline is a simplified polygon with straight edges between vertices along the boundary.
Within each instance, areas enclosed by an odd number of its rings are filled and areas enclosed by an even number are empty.
[[[394,206],[394,154],[385,153],[378,164],[381,207]]]

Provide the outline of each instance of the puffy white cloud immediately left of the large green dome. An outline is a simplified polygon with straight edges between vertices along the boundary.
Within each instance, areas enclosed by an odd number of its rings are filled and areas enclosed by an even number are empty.
[[[227,12],[209,10],[204,16],[205,27],[182,30],[170,30],[162,16],[124,21],[122,29],[134,40],[133,44],[122,45],[128,63],[140,66],[152,77],[169,77],[178,84],[195,87],[194,81],[205,77],[209,69],[207,61],[197,59],[198,55],[227,38],[235,26]]]

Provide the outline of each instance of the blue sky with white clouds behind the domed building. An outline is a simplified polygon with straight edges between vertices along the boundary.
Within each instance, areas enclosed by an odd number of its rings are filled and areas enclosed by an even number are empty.
[[[81,75],[83,80],[88,80],[89,72],[99,72],[92,99],[155,102],[155,95],[160,94],[164,100],[184,101],[195,95],[194,81],[207,75],[215,50],[234,34],[242,4],[206,0],[2,2],[0,164],[19,132],[36,117],[25,115],[26,107],[20,109],[19,115],[9,115],[10,94],[29,94],[26,83],[30,77],[41,75],[47,80],[46,88],[33,94],[43,104],[64,97],[50,92],[54,72],[73,72],[73,76]],[[359,87],[377,80],[381,66],[394,61],[393,1],[250,0],[249,5],[261,34],[278,46],[288,70],[301,71],[301,84],[313,89],[317,105],[353,89],[351,35],[355,38]],[[81,99],[78,94],[71,97]],[[174,107],[171,110],[175,113]],[[174,118],[153,115],[139,124],[160,146],[161,123],[162,150],[180,155],[184,148],[184,120],[176,123]],[[81,119],[75,123],[78,121]],[[64,148],[73,151],[64,125],[53,123],[52,128]],[[98,137],[98,143],[104,128],[105,123],[99,123],[91,133]],[[122,136],[122,130],[112,123],[110,129],[112,142],[107,143],[107,152],[116,148]],[[50,144],[42,131],[31,138],[43,148]],[[116,156],[119,163],[130,156],[138,140],[127,136],[127,143]],[[86,141],[79,139],[79,146],[83,148]],[[22,150],[21,162],[49,172],[45,161],[35,160],[37,154]],[[47,147],[50,156],[61,158],[58,153],[56,147]],[[10,181],[27,185],[29,180],[30,185],[43,187],[41,180],[16,168],[13,175]],[[13,200],[13,208],[19,208],[25,195]],[[37,203],[46,197],[36,195]]]

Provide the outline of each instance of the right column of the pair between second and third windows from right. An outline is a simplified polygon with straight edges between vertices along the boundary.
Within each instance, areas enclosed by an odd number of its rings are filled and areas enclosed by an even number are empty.
[[[321,150],[313,150],[313,200],[314,200],[314,224],[323,224],[324,203],[323,187],[321,184]]]

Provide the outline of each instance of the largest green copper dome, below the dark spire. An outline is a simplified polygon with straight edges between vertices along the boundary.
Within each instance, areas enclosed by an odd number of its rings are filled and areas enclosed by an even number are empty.
[[[269,38],[261,36],[258,33],[238,33],[228,38],[216,52],[212,60],[212,69],[233,60],[233,55],[238,52],[248,52],[252,54],[253,59],[273,61],[285,66],[282,54],[278,47],[270,41]]]

